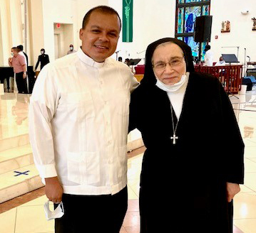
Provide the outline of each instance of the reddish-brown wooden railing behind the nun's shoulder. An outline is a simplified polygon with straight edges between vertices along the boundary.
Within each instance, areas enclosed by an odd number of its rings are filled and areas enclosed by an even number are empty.
[[[217,77],[225,92],[237,94],[241,90],[242,65],[200,66],[195,65],[196,72],[204,72]]]

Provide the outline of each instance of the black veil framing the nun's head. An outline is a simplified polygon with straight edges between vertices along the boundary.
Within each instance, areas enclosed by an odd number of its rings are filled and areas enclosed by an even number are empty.
[[[178,40],[175,38],[163,38],[160,40],[156,40],[155,42],[150,43],[150,45],[148,45],[148,48],[145,52],[145,74],[144,74],[143,80],[141,80],[141,85],[155,85],[156,79],[153,72],[151,60],[152,60],[152,56],[155,51],[155,48],[158,45],[165,42],[172,42],[178,45],[183,50],[187,72],[195,71],[190,46],[188,46],[182,40]]]

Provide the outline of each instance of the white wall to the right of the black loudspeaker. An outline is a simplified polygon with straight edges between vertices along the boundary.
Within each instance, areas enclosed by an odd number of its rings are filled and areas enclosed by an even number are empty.
[[[244,9],[250,12],[242,15],[241,11]],[[213,48],[215,61],[222,53],[237,55],[237,48],[221,48],[225,46],[240,47],[238,60],[241,63],[245,60],[245,48],[251,61],[256,61],[256,31],[252,31],[252,18],[256,17],[255,0],[213,0],[210,14],[213,16],[210,45]],[[222,21],[230,21],[230,33],[220,33]],[[215,36],[218,38],[215,39]]]

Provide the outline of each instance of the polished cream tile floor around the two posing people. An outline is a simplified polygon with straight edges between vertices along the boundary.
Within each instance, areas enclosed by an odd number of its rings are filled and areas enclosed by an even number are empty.
[[[245,185],[241,185],[241,192],[234,200],[234,233],[256,233],[256,88],[237,97],[239,99],[230,97],[230,100],[245,142]],[[27,137],[28,107],[29,95],[0,95],[0,162],[5,161],[6,156],[15,157],[15,154],[20,153],[26,155],[19,162],[19,168],[23,168],[24,161],[31,159]],[[138,190],[143,150],[144,148],[140,148],[128,155],[129,200],[122,233],[139,232]],[[3,168],[0,166],[0,190],[1,183],[7,182],[6,176],[1,179],[1,175],[5,174],[1,174]],[[26,171],[17,175],[24,174],[26,175]],[[53,232],[53,221],[47,222],[43,212],[43,204],[47,200],[43,191],[43,188],[39,188],[0,204],[0,233]]]

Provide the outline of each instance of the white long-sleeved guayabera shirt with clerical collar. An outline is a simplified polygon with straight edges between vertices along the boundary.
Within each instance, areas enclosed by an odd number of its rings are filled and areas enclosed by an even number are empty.
[[[96,63],[81,48],[41,70],[30,101],[29,135],[41,178],[63,192],[115,194],[126,186],[130,92],[127,65]]]

